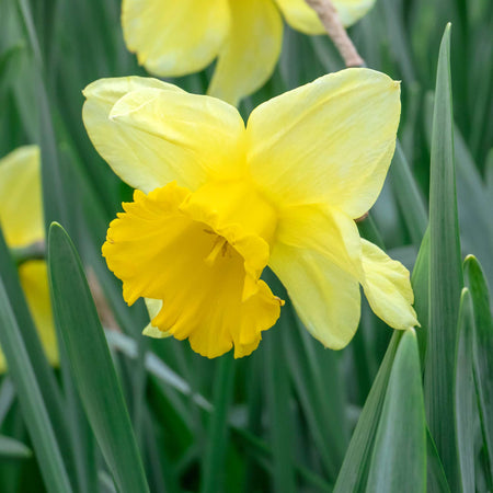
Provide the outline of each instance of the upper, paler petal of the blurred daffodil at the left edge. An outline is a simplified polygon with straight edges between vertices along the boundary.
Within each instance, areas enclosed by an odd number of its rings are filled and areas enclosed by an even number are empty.
[[[39,148],[21,147],[0,160],[0,225],[9,246],[45,238]]]

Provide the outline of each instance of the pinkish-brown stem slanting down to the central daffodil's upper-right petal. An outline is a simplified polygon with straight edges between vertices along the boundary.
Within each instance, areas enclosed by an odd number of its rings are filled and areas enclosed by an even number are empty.
[[[364,67],[365,60],[359,56],[356,47],[342,25],[337,10],[331,0],[305,0],[319,15],[329,37],[344,59],[346,67]]]

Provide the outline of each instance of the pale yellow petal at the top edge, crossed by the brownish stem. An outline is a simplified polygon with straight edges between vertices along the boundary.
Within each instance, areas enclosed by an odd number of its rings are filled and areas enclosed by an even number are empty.
[[[306,34],[322,34],[324,28],[313,9],[305,0],[276,0],[286,22]],[[362,19],[375,0],[333,0],[339,18],[346,27]]]

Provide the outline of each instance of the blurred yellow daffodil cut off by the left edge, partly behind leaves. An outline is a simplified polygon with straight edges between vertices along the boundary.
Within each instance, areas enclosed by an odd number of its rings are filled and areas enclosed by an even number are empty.
[[[7,244],[23,249],[45,241],[41,160],[37,146],[24,146],[0,159],[0,225]],[[48,274],[44,260],[27,260],[19,266],[19,278],[51,365],[58,364]],[[0,352],[0,371],[5,359]]]

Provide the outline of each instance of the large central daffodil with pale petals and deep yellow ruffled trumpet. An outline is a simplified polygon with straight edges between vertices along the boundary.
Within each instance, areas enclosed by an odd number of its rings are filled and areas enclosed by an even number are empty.
[[[93,145],[137,188],[103,255],[129,305],[148,298],[148,335],[250,354],[283,305],[260,279],[267,265],[328,347],[355,333],[359,285],[389,325],[416,325],[409,272],[354,221],[394,151],[398,82],[328,74],[260,105],[246,127],[233,106],[156,79],[102,79],[84,95]]]

